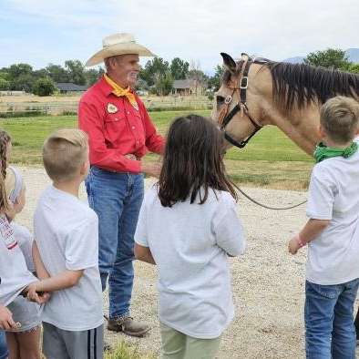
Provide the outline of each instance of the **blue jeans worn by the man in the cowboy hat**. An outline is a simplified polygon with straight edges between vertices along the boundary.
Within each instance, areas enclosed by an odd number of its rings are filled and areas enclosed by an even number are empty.
[[[143,200],[142,174],[91,167],[86,180],[89,206],[98,216],[98,267],[102,290],[108,280],[109,317],[129,313],[133,286],[134,235]]]

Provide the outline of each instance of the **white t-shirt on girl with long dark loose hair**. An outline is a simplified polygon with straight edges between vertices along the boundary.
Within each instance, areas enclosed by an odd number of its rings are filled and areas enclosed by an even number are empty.
[[[227,258],[244,251],[236,205],[228,192],[171,208],[152,187],[142,204],[135,241],[149,247],[159,270],[159,320],[195,338],[217,338],[234,308]]]

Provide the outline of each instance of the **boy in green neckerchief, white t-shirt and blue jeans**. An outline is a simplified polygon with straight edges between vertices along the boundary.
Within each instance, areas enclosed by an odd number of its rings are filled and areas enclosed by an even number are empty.
[[[359,286],[359,104],[333,97],[321,108],[320,143],[309,187],[309,221],[289,242],[309,243],[305,282],[307,358],[354,358]]]

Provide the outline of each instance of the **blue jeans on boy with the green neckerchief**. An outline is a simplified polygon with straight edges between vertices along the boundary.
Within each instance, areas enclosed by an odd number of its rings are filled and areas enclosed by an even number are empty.
[[[359,279],[336,285],[305,282],[305,351],[308,359],[354,359],[353,307]]]

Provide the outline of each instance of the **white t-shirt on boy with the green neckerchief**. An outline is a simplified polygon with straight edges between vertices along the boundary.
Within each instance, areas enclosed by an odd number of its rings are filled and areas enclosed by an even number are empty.
[[[307,281],[332,285],[359,278],[359,151],[314,166],[307,216],[331,220],[309,243]]]

